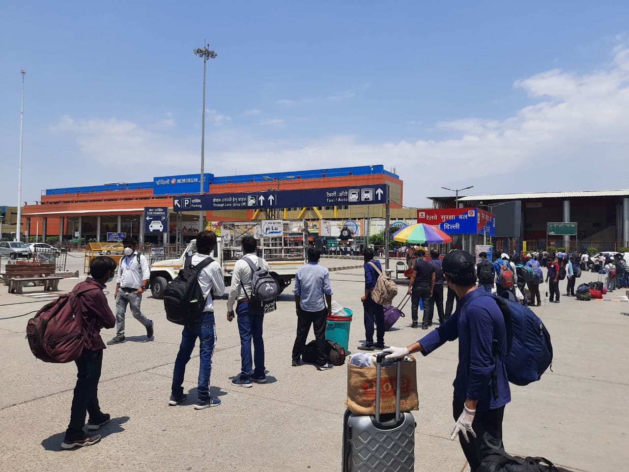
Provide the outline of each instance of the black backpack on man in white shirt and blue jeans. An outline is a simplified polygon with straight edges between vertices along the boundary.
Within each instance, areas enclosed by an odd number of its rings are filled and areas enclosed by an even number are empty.
[[[164,289],[164,308],[169,322],[185,326],[193,324],[201,317],[206,297],[201,291],[198,276],[212,262],[214,259],[206,257],[196,266],[192,266],[192,257],[186,257],[177,277]],[[211,291],[209,296],[212,296]]]

